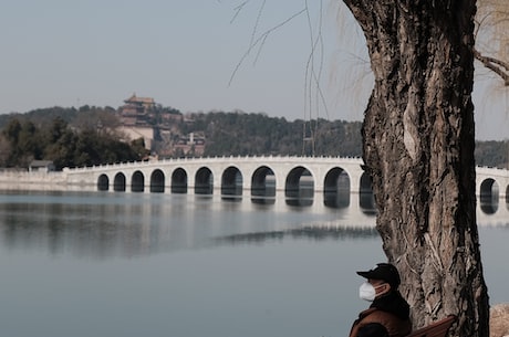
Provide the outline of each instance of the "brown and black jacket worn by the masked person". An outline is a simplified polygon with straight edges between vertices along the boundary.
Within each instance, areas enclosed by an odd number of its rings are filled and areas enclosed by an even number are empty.
[[[357,337],[359,331],[370,323],[382,324],[391,337],[406,336],[412,331],[409,306],[397,291],[376,298],[368,309],[359,314],[350,337]]]

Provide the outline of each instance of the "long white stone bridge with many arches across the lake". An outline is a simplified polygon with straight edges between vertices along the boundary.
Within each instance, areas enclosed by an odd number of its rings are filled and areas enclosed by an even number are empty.
[[[0,188],[303,197],[371,192],[361,158],[215,157],[123,162],[61,172],[1,172]],[[509,170],[477,167],[476,194],[482,200],[509,197]],[[38,188],[39,186],[39,188]],[[304,196],[305,197],[305,196]]]

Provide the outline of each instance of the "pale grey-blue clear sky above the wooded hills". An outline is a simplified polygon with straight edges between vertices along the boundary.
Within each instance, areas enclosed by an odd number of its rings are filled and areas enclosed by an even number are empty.
[[[183,113],[362,120],[373,80],[364,38],[343,7],[332,0],[2,0],[0,114],[117,108],[136,94]],[[508,89],[496,89],[486,73],[478,78],[476,138],[508,139]]]

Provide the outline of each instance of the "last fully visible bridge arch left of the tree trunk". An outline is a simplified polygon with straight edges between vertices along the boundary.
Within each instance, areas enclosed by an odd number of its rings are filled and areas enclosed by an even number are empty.
[[[350,176],[341,167],[330,169],[323,181],[323,203],[332,208],[350,206]]]

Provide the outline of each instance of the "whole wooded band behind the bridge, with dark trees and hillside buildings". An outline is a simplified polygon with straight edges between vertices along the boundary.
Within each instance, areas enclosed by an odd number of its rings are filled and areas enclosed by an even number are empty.
[[[51,107],[0,115],[0,167],[51,160],[61,170],[149,157],[362,157],[361,128],[361,122],[287,120],[241,110],[183,114],[157,104],[134,110]],[[476,141],[475,156],[477,166],[509,169],[509,139]]]

